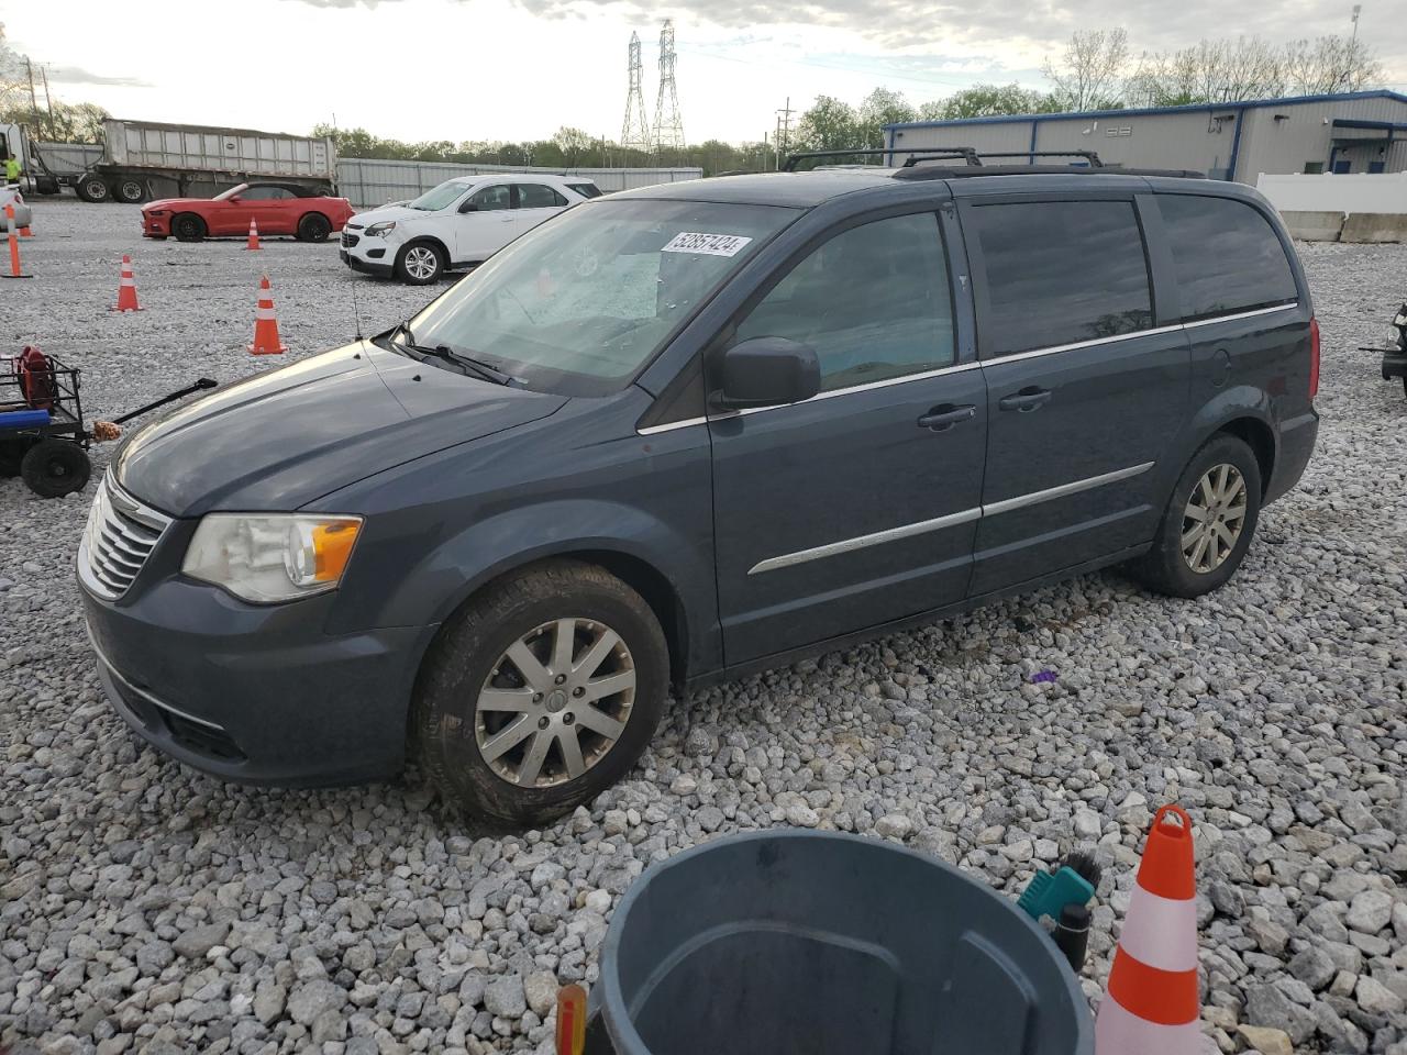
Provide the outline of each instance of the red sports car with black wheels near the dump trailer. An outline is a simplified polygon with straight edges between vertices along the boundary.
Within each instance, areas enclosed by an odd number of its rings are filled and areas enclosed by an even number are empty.
[[[142,205],[142,236],[179,242],[203,238],[243,238],[249,221],[260,235],[294,235],[301,242],[322,242],[352,217],[346,198],[329,198],[312,187],[293,183],[241,183],[214,198],[166,198]]]

